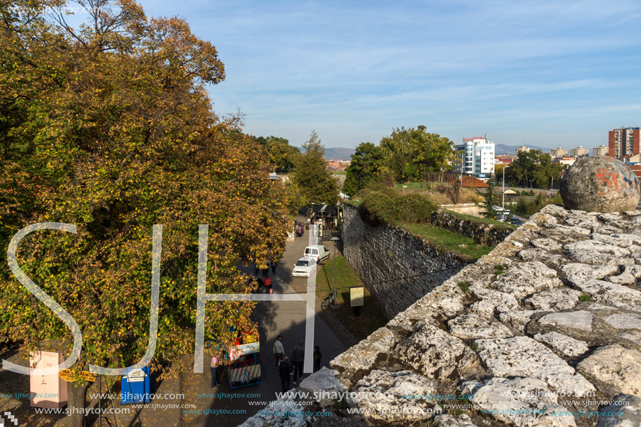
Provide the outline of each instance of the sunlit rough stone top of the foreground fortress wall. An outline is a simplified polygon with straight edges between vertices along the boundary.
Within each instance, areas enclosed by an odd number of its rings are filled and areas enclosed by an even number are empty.
[[[549,205],[243,426],[639,426],[638,280],[641,211]]]

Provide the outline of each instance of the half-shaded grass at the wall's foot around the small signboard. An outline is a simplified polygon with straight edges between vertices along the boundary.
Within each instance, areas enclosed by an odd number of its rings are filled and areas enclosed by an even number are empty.
[[[330,258],[324,264],[319,266],[316,273],[316,301],[317,305],[329,295],[331,289],[334,289],[334,259]],[[378,306],[376,299],[370,295],[367,288],[365,289],[365,305],[361,307],[361,314],[354,316],[354,308],[350,307],[350,287],[363,286],[359,277],[356,276],[350,264],[345,257],[337,254],[336,256],[336,290],[338,291],[339,308],[328,308],[331,314],[350,330],[358,340],[367,338],[378,328],[387,324],[387,318]]]

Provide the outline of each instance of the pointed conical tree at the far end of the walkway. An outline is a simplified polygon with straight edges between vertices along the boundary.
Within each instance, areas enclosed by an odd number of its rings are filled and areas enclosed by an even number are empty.
[[[312,131],[303,148],[305,153],[296,161],[296,168],[291,174],[292,182],[309,203],[335,205],[338,202],[338,184],[327,170],[325,148],[316,131]]]

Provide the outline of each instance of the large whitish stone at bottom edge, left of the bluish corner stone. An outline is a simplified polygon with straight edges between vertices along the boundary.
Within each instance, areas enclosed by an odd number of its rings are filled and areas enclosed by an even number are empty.
[[[565,407],[558,405],[540,379],[491,378],[487,382],[463,382],[463,394],[492,417],[515,426],[576,426]]]

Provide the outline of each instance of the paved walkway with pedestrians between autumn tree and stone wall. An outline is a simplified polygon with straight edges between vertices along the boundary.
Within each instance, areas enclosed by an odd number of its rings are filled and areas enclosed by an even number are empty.
[[[300,222],[303,218],[298,217]],[[269,272],[272,279],[274,293],[291,294],[302,293],[307,289],[305,277],[292,277],[291,270],[296,261],[303,256],[305,247],[308,245],[309,232],[305,230],[303,238],[296,238],[293,242],[287,242],[285,254],[278,262],[275,277]],[[331,243],[326,244],[333,256]],[[331,258],[330,258],[331,259]],[[327,261],[325,261],[327,262]],[[243,266],[245,273],[254,274],[254,266]],[[262,277],[262,273],[261,273]],[[317,293],[317,298],[323,298],[323,292]],[[208,360],[211,356],[206,349],[205,372],[202,374],[192,372],[193,356],[185,357],[182,361],[185,368],[182,370],[182,377],[166,379],[157,387],[155,393],[184,393],[185,398],[180,402],[168,400],[155,400],[147,408],[140,410],[134,416],[120,416],[121,426],[154,426],[154,425],[175,425],[175,426],[238,426],[245,419],[261,410],[265,405],[255,405],[262,401],[274,400],[276,392],[281,391],[280,377],[273,364],[273,343],[278,335],[283,336],[285,352],[289,355],[298,340],[305,340],[305,302],[298,301],[262,301],[257,303],[253,319],[259,324],[260,335],[260,357],[262,382],[254,386],[247,386],[231,390],[229,379],[224,376],[223,384],[217,389],[210,388],[210,372]],[[315,315],[315,342],[321,348],[323,359],[322,366],[328,366],[329,361],[338,354],[343,353],[347,346],[341,342],[335,331],[331,329],[319,315]],[[303,375],[304,377],[307,376]],[[294,377],[291,377],[292,381]],[[242,397],[211,397],[202,396],[211,393],[243,393]],[[182,413],[182,408],[166,408],[164,410],[150,407],[153,403],[180,403],[180,405],[195,405]],[[251,405],[250,403],[254,403]],[[116,405],[120,406],[120,405]],[[201,411],[195,414],[193,411]],[[206,413],[216,411],[245,411],[243,414]]]

